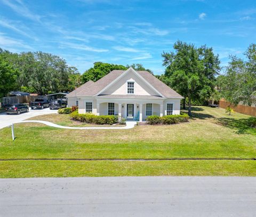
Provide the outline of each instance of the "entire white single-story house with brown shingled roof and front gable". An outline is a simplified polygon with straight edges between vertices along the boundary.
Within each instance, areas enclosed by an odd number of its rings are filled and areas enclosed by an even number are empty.
[[[180,114],[183,97],[148,71],[113,70],[97,82],[86,82],[67,96],[80,114],[118,115],[142,122],[150,115]]]

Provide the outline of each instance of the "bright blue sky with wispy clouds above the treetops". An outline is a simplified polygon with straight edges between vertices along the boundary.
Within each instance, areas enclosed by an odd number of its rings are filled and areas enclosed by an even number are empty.
[[[0,1],[0,47],[53,53],[81,73],[102,61],[162,74],[161,53],[177,39],[213,47],[225,66],[255,33],[255,0]]]

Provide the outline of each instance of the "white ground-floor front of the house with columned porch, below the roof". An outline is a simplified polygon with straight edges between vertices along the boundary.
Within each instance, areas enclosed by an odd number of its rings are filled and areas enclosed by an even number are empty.
[[[129,96],[130,97],[130,96]],[[133,96],[134,97],[134,96]],[[136,96],[138,97],[138,96]],[[149,96],[148,99],[120,97],[78,98],[78,112],[95,115],[117,115],[127,120],[143,122],[150,115],[179,115],[180,99],[165,99]],[[147,96],[146,96],[147,97]]]

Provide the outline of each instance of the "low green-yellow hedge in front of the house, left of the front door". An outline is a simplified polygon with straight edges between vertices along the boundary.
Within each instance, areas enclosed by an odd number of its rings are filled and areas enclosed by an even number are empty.
[[[118,116],[115,115],[94,115],[91,113],[78,114],[78,111],[73,111],[70,114],[73,120],[79,120],[81,122],[89,124],[116,124],[118,123]]]

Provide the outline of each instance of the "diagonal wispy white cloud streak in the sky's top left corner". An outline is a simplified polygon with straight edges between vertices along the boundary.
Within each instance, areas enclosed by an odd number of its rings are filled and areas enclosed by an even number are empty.
[[[15,3],[14,3],[15,2]],[[32,13],[28,7],[23,4],[21,0],[15,0],[15,1],[9,1],[9,0],[2,0],[2,3],[9,6],[13,11],[16,13],[22,15],[23,17],[26,17],[30,20],[41,22],[41,17],[37,14]]]

